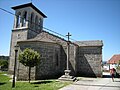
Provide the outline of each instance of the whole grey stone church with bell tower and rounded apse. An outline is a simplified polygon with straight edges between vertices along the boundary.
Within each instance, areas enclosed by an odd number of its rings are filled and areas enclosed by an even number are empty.
[[[40,64],[32,68],[32,79],[58,78],[63,75],[67,61],[67,41],[43,29],[43,20],[47,16],[32,3],[14,6],[12,9],[16,16],[11,34],[9,73],[14,70],[14,46],[18,44],[18,54],[25,48],[41,54]],[[102,46],[101,40],[70,42],[70,75],[101,77]],[[18,60],[16,76],[18,80],[28,79],[28,68]]]

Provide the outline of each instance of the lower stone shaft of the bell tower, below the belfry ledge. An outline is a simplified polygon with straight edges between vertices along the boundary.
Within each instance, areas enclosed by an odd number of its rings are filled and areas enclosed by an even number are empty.
[[[28,38],[33,38],[37,35],[36,32],[28,30],[28,28],[14,29],[11,34],[11,43],[10,43],[10,58],[9,58],[9,73],[13,73],[14,59],[15,59],[15,48],[14,46],[19,41],[27,40]]]

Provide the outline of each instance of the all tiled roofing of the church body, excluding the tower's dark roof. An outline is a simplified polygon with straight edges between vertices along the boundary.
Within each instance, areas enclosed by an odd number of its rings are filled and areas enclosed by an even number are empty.
[[[42,33],[38,34],[36,37],[25,40],[25,41],[46,41],[46,42],[63,42],[67,43],[67,40],[64,38],[61,38],[57,35],[54,35],[52,33],[49,33],[47,31],[42,31]],[[76,41],[76,42],[70,42],[71,44],[75,46],[103,46],[102,40],[89,40],[89,41]]]

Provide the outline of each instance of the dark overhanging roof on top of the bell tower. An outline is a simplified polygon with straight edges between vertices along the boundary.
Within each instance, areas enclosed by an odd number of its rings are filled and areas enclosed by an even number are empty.
[[[14,7],[12,7],[12,9],[16,10],[16,9],[24,8],[24,7],[32,7],[39,14],[41,14],[44,18],[47,18],[47,16],[45,14],[43,14],[38,8],[36,8],[32,3],[27,3],[27,4],[22,4],[22,5],[14,6]]]

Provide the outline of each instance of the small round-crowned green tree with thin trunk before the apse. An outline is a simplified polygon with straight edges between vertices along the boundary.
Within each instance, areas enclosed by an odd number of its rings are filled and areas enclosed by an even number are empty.
[[[40,62],[40,54],[33,49],[26,48],[23,52],[19,54],[19,62],[24,66],[29,67],[29,83],[30,83],[30,73],[31,67],[36,66]]]

